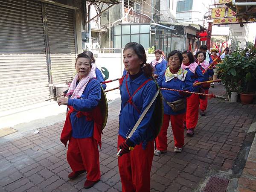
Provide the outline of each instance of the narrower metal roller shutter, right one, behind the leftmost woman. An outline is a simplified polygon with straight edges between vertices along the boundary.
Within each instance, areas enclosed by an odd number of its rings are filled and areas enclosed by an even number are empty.
[[[76,50],[73,10],[46,4],[51,73],[54,85],[75,73]]]

